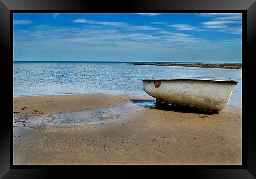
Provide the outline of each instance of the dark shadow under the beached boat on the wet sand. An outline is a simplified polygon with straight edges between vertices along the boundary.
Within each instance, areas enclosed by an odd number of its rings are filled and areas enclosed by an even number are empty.
[[[138,99],[130,99],[132,103],[138,105],[140,107],[145,107],[149,109],[163,110],[163,111],[175,111],[180,113],[195,113],[195,114],[219,114],[219,112],[211,112],[211,111],[202,111],[199,109],[193,109],[185,106],[177,106],[171,105],[167,103],[160,103],[156,100],[138,100]]]

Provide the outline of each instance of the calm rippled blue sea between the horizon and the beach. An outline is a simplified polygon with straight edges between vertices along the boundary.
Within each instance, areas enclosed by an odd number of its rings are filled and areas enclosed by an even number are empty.
[[[123,62],[13,62],[13,96],[46,94],[148,95],[142,79],[234,79],[228,105],[241,107],[242,70],[130,65]]]

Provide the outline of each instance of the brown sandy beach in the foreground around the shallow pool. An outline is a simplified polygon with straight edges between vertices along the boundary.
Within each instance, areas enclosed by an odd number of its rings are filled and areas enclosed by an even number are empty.
[[[126,113],[109,113],[97,123],[30,124],[67,111],[115,111],[126,103]],[[150,96],[15,97],[13,164],[241,164],[241,108],[217,114],[152,103]]]

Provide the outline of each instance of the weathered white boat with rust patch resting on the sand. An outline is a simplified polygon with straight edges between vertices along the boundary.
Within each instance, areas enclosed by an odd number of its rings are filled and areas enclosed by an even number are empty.
[[[237,81],[210,79],[142,80],[143,90],[158,102],[204,111],[223,110]]]

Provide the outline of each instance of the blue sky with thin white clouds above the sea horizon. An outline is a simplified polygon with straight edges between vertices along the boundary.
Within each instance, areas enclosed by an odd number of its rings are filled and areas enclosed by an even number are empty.
[[[13,61],[241,63],[241,14],[15,13]]]

